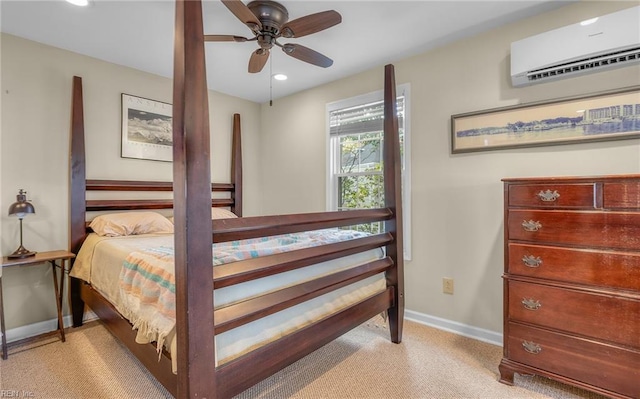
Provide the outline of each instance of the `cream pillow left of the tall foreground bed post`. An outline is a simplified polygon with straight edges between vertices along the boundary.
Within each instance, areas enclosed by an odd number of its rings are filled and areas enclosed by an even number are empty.
[[[157,212],[122,212],[97,216],[89,225],[100,236],[173,233],[173,223]]]

